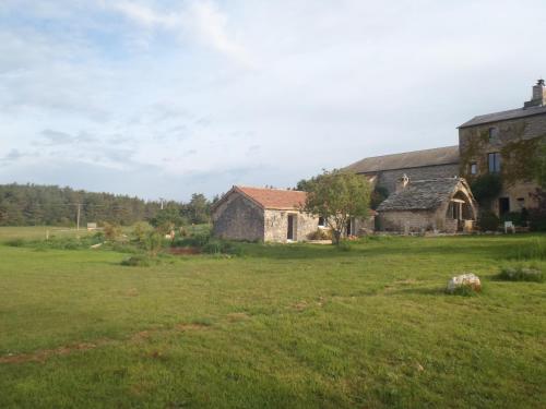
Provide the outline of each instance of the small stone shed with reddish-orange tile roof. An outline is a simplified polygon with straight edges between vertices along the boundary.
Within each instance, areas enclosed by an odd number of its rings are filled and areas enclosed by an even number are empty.
[[[305,241],[319,218],[301,213],[306,192],[234,187],[213,206],[213,234],[230,240]]]

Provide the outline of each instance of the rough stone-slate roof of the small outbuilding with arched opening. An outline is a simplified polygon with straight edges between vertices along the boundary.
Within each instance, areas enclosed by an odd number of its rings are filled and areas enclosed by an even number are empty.
[[[460,178],[415,180],[400,192],[391,194],[378,207],[378,212],[430,210],[451,199]]]

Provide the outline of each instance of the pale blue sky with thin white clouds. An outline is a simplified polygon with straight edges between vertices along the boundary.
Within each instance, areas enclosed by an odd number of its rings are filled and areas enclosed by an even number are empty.
[[[458,143],[546,75],[544,0],[0,0],[0,183],[187,201]]]

